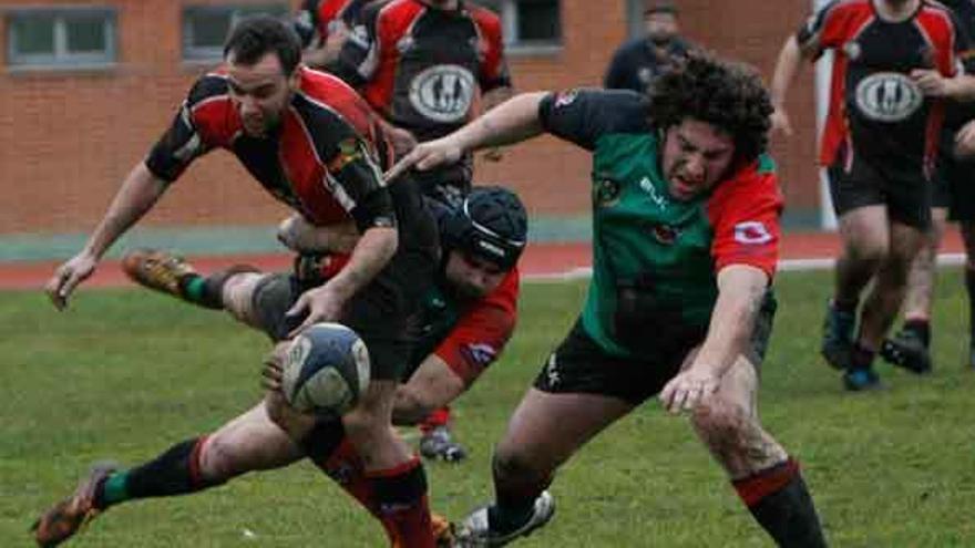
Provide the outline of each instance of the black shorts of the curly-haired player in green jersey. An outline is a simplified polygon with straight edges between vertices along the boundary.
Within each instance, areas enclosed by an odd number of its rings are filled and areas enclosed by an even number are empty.
[[[748,358],[758,366],[764,358],[777,302],[766,293],[751,333]],[[535,389],[551,394],[598,394],[639,405],[658,394],[680,371],[688,352],[702,339],[673,344],[666,353],[648,359],[627,359],[609,354],[586,332],[582,319],[558,344],[535,378]]]

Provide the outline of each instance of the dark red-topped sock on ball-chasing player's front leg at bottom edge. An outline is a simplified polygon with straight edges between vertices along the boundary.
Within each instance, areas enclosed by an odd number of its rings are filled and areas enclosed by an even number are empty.
[[[435,548],[427,499],[427,476],[419,457],[366,475],[372,484],[380,520],[392,529],[396,548]],[[387,533],[390,533],[390,529]]]

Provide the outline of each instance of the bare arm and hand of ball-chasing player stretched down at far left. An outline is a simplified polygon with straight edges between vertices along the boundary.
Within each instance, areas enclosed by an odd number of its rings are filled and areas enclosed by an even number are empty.
[[[94,272],[112,244],[152,209],[165,189],[166,183],[153,175],[145,163],[132,169],[84,248],[61,265],[44,286],[48,297],[59,310],[68,306],[74,288]]]

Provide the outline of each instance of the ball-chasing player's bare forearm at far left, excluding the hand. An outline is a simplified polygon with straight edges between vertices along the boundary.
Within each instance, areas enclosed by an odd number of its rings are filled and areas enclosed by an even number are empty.
[[[85,244],[85,251],[101,258],[115,240],[152,209],[165,189],[166,183],[153,175],[144,163],[135,166]]]

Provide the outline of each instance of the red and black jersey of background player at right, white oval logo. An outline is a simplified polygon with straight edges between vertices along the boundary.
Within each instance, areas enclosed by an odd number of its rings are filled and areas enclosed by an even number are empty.
[[[830,106],[820,161],[832,165],[844,151],[906,169],[930,168],[943,118],[941,101],[925,97],[915,69],[953,76],[963,40],[951,12],[922,0],[903,21],[886,21],[871,0],[834,0],[798,31],[807,53],[833,50]]]

